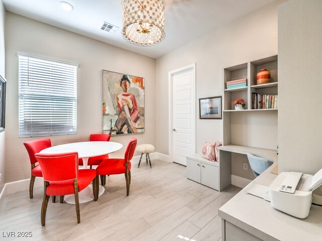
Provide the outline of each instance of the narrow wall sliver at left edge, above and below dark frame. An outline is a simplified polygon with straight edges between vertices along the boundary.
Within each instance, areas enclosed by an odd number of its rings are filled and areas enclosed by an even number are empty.
[[[5,76],[5,18],[6,11],[4,3],[0,1],[0,75]],[[6,132],[0,133],[0,173],[2,181],[0,183],[0,192],[5,184],[5,135]]]

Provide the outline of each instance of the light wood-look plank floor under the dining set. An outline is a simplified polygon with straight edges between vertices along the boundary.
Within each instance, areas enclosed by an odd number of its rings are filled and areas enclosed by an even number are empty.
[[[11,194],[0,200],[0,239],[16,240],[18,231],[30,231],[23,240],[131,240],[215,241],[221,240],[218,208],[240,188],[223,192],[186,178],[186,167],[151,160],[132,165],[130,195],[126,196],[124,175],[111,175],[106,192],[98,201],[80,204],[81,223],[75,206],[52,203],[47,208],[46,226],[40,224],[43,188]],[[16,237],[3,237],[13,231]]]

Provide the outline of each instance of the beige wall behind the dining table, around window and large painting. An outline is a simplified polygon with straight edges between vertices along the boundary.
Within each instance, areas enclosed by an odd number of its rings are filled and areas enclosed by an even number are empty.
[[[17,51],[79,64],[77,70],[77,134],[50,137],[53,145],[88,141],[101,133],[101,70],[145,78],[145,133],[133,135],[140,143],[155,145],[155,60],[100,41],[77,35],[19,15],[6,16],[6,182],[30,177],[30,162],[19,138]],[[113,136],[126,146],[131,135]],[[1,140],[1,139],[0,139]],[[1,148],[1,147],[0,147]],[[113,154],[123,156],[124,148]],[[112,156],[113,156],[112,155]]]

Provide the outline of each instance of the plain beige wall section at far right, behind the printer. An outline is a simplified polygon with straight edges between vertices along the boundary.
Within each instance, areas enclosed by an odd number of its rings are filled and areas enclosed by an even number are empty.
[[[279,8],[280,172],[322,168],[321,13],[321,0],[291,0]]]

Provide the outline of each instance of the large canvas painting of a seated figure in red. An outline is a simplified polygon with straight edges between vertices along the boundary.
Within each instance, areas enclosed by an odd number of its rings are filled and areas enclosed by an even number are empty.
[[[103,133],[144,132],[144,78],[102,71]]]

